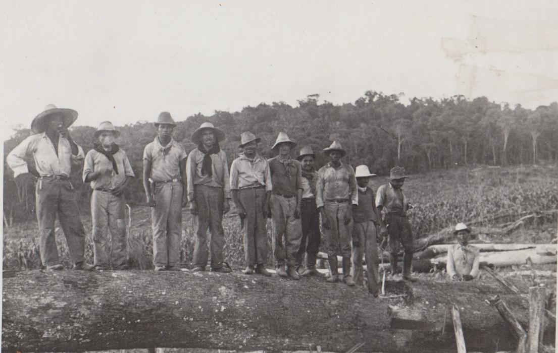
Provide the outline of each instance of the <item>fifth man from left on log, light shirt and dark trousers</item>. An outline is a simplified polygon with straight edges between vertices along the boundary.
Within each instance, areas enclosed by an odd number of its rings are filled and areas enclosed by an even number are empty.
[[[270,276],[267,259],[266,216],[271,197],[270,164],[257,153],[259,137],[251,132],[240,136],[242,153],[230,165],[230,190],[244,234],[243,273]]]

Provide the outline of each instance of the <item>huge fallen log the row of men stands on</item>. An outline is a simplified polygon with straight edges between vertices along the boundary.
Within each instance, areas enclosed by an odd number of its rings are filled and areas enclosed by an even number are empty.
[[[89,351],[149,347],[237,350],[449,351],[453,335],[391,327],[389,299],[325,278],[289,281],[239,273],[40,270],[4,273],[2,349]],[[407,318],[440,323],[449,303],[461,317],[469,349],[512,349],[511,335],[484,299],[497,283],[388,282]],[[440,293],[444,293],[440,296]],[[506,300],[519,321],[528,308]],[[401,312],[399,318],[405,318]],[[440,327],[440,325],[432,325]],[[446,330],[447,332],[448,330]],[[499,343],[498,343],[499,342]],[[497,346],[498,345],[498,346]]]

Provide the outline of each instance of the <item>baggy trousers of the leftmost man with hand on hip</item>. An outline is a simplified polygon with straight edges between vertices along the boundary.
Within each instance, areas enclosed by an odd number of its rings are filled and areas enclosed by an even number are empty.
[[[56,215],[68,243],[71,261],[82,262],[85,252],[85,230],[81,224],[78,202],[71,182],[49,177],[39,178],[35,195],[42,264],[60,264],[54,235]]]

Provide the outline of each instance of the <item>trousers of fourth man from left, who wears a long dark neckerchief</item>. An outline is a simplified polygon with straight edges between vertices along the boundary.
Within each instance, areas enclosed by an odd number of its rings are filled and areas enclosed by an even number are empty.
[[[208,263],[208,228],[211,233],[209,249],[211,251],[211,268],[223,267],[223,203],[225,196],[222,187],[194,185],[194,202],[198,207],[198,230],[194,247],[194,266],[205,267]]]

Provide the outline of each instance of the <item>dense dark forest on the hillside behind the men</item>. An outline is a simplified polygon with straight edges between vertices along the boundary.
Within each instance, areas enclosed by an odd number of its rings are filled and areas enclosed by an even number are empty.
[[[203,122],[211,122],[227,133],[220,146],[227,152],[229,165],[238,152],[240,133],[250,130],[261,137],[261,153],[271,157],[270,147],[277,133],[284,131],[299,148],[310,145],[314,151],[339,140],[348,150],[345,161],[353,166],[366,164],[373,173],[387,175],[400,165],[410,173],[468,165],[518,165],[555,162],[558,152],[558,104],[541,105],[535,110],[521,105],[510,107],[485,97],[468,100],[458,95],[436,100],[413,98],[405,105],[401,95],[367,91],[354,103],[319,103],[319,95],[298,101],[297,107],[283,102],[259,104],[240,112],[221,112],[209,117],[196,114],[177,122],[174,137],[186,152],[196,146],[190,136]],[[172,114],[172,112],[171,112]],[[128,153],[136,181],[127,192],[129,203],[143,202],[141,186],[142,153],[156,131],[156,117],[142,117],[135,124],[119,127],[120,146]],[[84,123],[86,118],[78,119]],[[95,127],[74,126],[71,134],[85,153],[93,148]],[[29,129],[18,130],[4,142],[4,214],[9,221],[32,216],[33,202],[18,200],[13,173],[6,155]],[[318,166],[325,163],[319,154]],[[83,185],[81,170],[73,171],[76,185]],[[30,196],[33,197],[33,190]],[[82,200],[88,200],[89,187],[81,187]],[[21,193],[20,193],[21,194]]]

